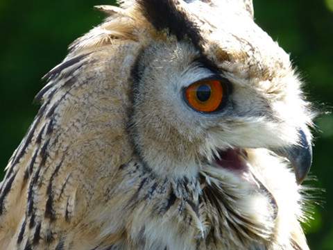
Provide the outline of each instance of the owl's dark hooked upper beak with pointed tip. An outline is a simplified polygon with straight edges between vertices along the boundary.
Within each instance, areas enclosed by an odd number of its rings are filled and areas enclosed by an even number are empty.
[[[299,130],[298,133],[300,135],[298,145],[273,151],[289,160],[295,171],[296,181],[300,185],[307,177],[312,164],[312,147],[304,131]]]

